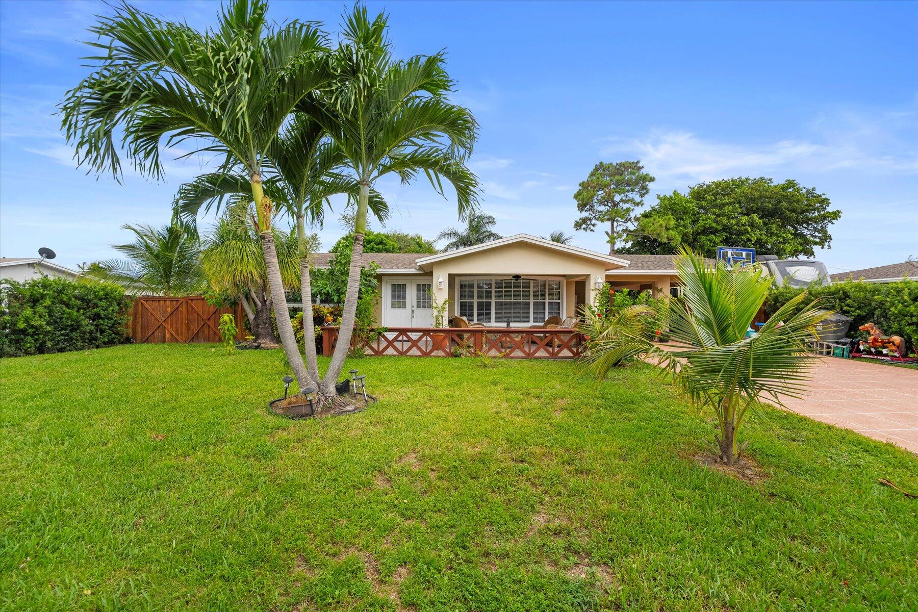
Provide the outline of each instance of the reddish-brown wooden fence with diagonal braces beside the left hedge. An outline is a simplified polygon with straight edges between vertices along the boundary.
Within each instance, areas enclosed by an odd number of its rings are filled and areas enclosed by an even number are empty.
[[[245,311],[210,306],[201,295],[160,297],[141,295],[130,310],[130,339],[147,344],[164,342],[220,342],[219,321],[224,313],[236,317],[236,339],[245,337]]]

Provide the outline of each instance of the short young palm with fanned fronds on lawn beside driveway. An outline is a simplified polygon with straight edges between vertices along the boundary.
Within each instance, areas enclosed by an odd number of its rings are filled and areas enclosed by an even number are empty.
[[[760,268],[708,265],[700,255],[682,250],[675,259],[682,297],[668,309],[669,334],[680,351],[660,351],[639,332],[619,330],[618,340],[590,347],[594,371],[608,373],[614,359],[603,351],[655,357],[673,374],[679,388],[700,408],[710,408],[718,422],[721,461],[728,465],[742,450],[737,433],[746,413],[764,399],[780,405],[780,396],[800,395],[809,379],[807,341],[818,338],[816,326],[833,313],[809,306],[805,292],[781,306],[761,330],[746,338],[765,302],[771,279]]]

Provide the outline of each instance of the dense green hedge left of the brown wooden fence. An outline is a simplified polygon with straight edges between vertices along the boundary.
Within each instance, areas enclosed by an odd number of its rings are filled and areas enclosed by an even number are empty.
[[[2,357],[82,351],[128,339],[131,300],[116,285],[6,280],[0,298]]]

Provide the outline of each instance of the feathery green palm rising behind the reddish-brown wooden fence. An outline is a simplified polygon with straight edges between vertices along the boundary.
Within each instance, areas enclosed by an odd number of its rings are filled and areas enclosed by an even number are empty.
[[[95,261],[84,269],[87,280],[117,283],[126,290],[151,295],[194,295],[204,288],[200,244],[180,223],[153,228],[124,225],[134,234],[112,248],[128,259]]]

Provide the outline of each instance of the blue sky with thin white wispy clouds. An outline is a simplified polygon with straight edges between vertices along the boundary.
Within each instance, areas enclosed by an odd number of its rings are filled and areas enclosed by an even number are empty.
[[[195,27],[213,2],[140,2]],[[455,98],[481,127],[472,166],[498,232],[573,233],[576,185],[599,161],[640,159],[654,193],[738,175],[794,178],[843,211],[831,272],[918,256],[918,3],[371,2],[397,54],[446,49]],[[277,2],[276,20],[334,31],[341,2]],[[178,184],[124,184],[73,166],[51,116],[84,76],[95,2],[0,4],[0,254],[49,246],[75,266],[115,254],[125,223],[168,221]],[[382,184],[389,228],[457,225],[430,186]],[[319,230],[329,247],[341,235]],[[375,226],[378,228],[378,224]],[[605,250],[601,232],[575,242]]]

